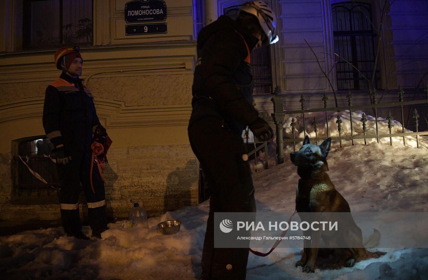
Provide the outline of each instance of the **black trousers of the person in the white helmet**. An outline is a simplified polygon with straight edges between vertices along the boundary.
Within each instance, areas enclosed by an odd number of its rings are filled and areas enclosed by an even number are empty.
[[[203,279],[245,279],[248,248],[214,248],[214,212],[256,212],[254,187],[241,132],[205,117],[188,127],[190,145],[208,180],[210,211],[202,251]],[[249,244],[249,243],[248,243]]]

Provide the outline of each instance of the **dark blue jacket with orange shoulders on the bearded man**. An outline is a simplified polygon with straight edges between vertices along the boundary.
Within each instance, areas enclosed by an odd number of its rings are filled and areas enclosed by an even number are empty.
[[[92,133],[100,125],[93,99],[81,79],[65,73],[48,85],[43,127],[55,147],[63,144],[66,152],[90,149]]]

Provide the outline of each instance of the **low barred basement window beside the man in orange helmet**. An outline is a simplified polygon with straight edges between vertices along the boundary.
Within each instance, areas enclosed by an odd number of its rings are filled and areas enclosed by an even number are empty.
[[[15,198],[42,195],[50,196],[48,200],[57,200],[56,194],[51,194],[59,185],[52,149],[53,144],[45,135],[12,141],[12,183]]]

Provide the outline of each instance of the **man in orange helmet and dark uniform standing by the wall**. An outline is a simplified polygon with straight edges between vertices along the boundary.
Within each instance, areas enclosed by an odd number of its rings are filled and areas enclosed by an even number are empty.
[[[67,236],[89,239],[82,232],[79,215],[80,185],[88,203],[92,236],[101,238],[107,230],[104,182],[98,168],[90,170],[93,139],[105,144],[106,130],[98,120],[92,93],[83,85],[83,59],[78,47],[62,47],[54,55],[56,68],[62,70],[59,79],[48,85],[43,107],[43,127],[54,145],[60,181],[59,203],[62,225]]]

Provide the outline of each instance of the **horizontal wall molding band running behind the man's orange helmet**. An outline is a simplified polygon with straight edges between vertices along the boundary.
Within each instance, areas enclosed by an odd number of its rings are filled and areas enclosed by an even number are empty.
[[[53,64],[56,50],[0,55],[0,84],[53,81],[60,72]],[[134,44],[81,48],[83,79],[102,72],[190,70],[196,43]],[[1,101],[1,100],[0,100]]]

